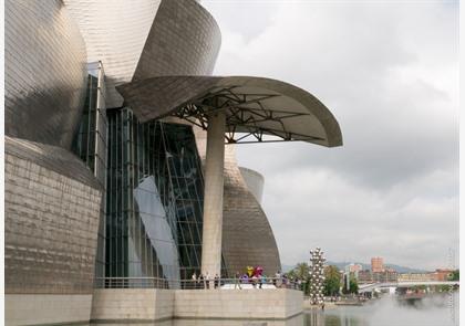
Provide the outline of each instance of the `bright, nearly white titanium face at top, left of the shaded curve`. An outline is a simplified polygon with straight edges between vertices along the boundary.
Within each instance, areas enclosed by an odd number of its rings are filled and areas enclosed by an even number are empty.
[[[105,67],[106,107],[123,98],[114,86],[132,80],[161,0],[64,0],[87,46]],[[177,2],[177,1],[176,1]]]

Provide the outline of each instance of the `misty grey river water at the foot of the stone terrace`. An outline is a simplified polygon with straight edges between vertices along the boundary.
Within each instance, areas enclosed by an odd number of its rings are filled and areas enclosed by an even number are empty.
[[[100,324],[92,324],[100,325]],[[108,324],[105,324],[108,326]],[[121,326],[122,324],[117,324]],[[127,324],[131,326],[140,324]],[[144,324],[151,325],[151,324]],[[306,311],[288,320],[175,319],[154,326],[458,326],[458,293],[434,295],[415,303],[395,296],[373,299],[363,306],[327,306]]]

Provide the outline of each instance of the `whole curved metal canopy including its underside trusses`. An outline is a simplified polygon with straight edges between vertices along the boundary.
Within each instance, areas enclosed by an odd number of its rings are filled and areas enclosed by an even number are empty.
[[[262,136],[272,135],[328,147],[342,145],[331,112],[310,93],[277,80],[161,76],[116,88],[141,122],[177,116],[207,128],[208,115],[221,111],[227,143],[267,141]]]

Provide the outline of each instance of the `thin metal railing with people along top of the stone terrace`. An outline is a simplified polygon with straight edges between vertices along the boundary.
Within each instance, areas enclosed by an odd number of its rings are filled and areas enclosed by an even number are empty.
[[[97,288],[172,288],[172,290],[235,290],[292,288],[303,290],[303,282],[286,277],[167,280],[159,277],[96,277]]]

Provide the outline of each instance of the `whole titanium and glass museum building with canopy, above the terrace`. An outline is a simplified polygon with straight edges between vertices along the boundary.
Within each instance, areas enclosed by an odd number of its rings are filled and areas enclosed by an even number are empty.
[[[194,0],[6,0],[7,319],[89,316],[94,288],[122,282],[280,270],[235,144],[341,132],[297,86],[211,76],[219,48]]]

